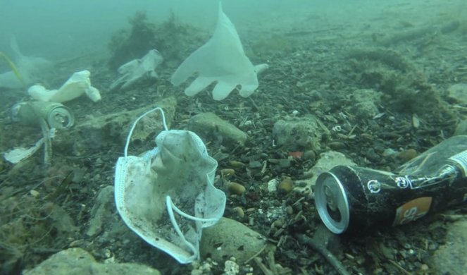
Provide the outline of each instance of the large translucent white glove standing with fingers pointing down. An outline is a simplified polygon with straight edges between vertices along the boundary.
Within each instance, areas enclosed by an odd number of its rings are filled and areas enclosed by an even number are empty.
[[[178,86],[197,73],[197,78],[185,89],[185,94],[190,97],[212,82],[217,82],[213,89],[213,99],[225,99],[237,85],[241,86],[240,95],[249,97],[258,87],[256,73],[267,67],[266,64],[256,67],[251,64],[235,26],[223,13],[219,3],[218,22],[213,36],[182,62],[173,73],[171,82]]]

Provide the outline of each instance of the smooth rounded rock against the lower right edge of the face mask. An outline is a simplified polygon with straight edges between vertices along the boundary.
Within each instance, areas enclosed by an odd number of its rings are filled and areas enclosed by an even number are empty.
[[[211,257],[225,262],[235,257],[237,263],[245,262],[266,245],[266,238],[242,223],[222,218],[217,224],[205,228],[201,238],[201,257]]]

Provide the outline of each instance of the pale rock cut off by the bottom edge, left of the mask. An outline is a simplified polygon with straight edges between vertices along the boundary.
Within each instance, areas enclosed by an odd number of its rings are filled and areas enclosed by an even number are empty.
[[[25,271],[25,275],[49,275],[49,274],[66,274],[66,275],[160,275],[161,273],[151,267],[142,264],[100,264],[87,251],[81,248],[70,248],[58,252],[49,259],[39,264],[31,270]]]

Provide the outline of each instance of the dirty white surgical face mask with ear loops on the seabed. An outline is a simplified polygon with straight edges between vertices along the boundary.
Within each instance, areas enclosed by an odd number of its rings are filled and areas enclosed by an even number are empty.
[[[156,137],[157,147],[142,157],[127,156],[136,123],[156,110],[165,129]],[[133,123],[116,164],[118,212],[132,231],[178,262],[199,259],[202,228],[216,224],[225,209],[225,193],[213,185],[216,168],[198,135],[168,130],[161,108],[148,111]]]

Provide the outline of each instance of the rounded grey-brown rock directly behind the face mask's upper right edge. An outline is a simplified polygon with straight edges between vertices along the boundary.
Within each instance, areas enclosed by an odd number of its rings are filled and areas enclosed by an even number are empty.
[[[189,119],[188,129],[204,141],[221,141],[223,145],[244,145],[248,135],[213,113],[202,113]]]

